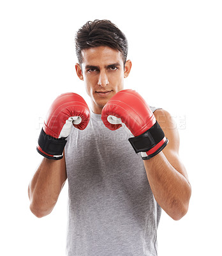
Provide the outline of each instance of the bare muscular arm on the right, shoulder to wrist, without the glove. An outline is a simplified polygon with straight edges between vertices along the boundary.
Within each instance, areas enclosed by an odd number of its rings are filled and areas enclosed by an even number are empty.
[[[169,113],[159,109],[154,115],[169,143],[159,154],[144,160],[144,166],[156,201],[170,217],[179,220],[188,211],[191,196],[188,175],[179,159],[179,134]]]

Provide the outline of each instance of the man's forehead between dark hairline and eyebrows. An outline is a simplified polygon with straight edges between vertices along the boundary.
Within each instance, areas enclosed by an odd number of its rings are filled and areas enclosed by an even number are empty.
[[[82,64],[108,65],[117,62],[123,64],[122,54],[110,47],[99,46],[82,50]]]

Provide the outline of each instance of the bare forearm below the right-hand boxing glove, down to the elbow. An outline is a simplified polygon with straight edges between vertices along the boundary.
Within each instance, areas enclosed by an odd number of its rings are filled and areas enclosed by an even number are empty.
[[[179,220],[188,211],[191,186],[182,174],[183,166],[172,166],[163,152],[144,160],[147,179],[158,204],[174,220]]]

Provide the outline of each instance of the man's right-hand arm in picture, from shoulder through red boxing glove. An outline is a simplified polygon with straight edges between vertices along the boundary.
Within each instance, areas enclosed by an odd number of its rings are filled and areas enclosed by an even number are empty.
[[[101,119],[110,130],[126,125],[133,135],[129,142],[146,159],[144,166],[156,201],[174,220],[181,219],[188,211],[191,186],[179,159],[179,134],[170,114],[164,110],[152,113],[139,93],[126,89],[108,100]]]

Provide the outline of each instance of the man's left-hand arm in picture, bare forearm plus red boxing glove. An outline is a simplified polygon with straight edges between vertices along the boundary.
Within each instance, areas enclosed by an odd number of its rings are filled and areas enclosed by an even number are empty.
[[[63,93],[52,102],[38,138],[44,156],[29,184],[30,209],[38,218],[50,214],[67,179],[64,147],[71,127],[84,130],[90,111],[77,93]]]

